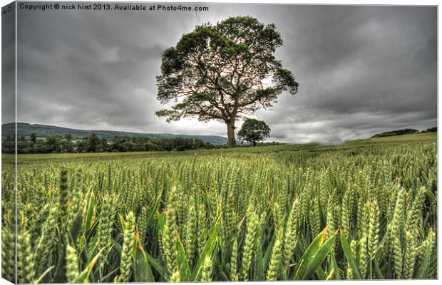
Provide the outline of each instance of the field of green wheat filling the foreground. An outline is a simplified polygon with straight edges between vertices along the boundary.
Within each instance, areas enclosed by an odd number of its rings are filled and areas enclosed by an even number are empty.
[[[437,278],[434,133],[18,163],[21,283]]]

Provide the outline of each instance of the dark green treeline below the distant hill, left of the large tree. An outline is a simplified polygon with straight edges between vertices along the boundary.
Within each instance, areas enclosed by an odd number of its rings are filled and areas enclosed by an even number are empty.
[[[1,140],[1,152],[14,153],[14,136]],[[138,152],[138,151],[183,151],[200,148],[220,148],[227,145],[205,143],[198,138],[155,138],[118,137],[108,140],[91,134],[81,140],[73,140],[72,135],[48,135],[37,138],[36,133],[30,137],[20,135],[17,139],[18,153],[66,153],[66,152]]]

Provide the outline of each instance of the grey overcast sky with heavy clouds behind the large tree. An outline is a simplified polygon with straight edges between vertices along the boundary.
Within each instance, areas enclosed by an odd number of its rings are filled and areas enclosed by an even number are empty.
[[[272,129],[270,140],[342,142],[436,126],[435,7],[206,6],[210,11],[19,10],[18,120],[226,135],[222,123],[155,116],[164,108],[155,76],[163,50],[195,25],[254,16],[277,26],[284,41],[277,57],[300,84],[297,95],[283,93],[273,110],[255,113]]]

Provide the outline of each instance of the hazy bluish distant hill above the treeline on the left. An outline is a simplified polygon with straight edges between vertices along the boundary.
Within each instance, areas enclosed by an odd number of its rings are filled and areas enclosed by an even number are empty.
[[[54,125],[38,125],[29,123],[17,123],[19,135],[29,137],[31,133],[36,133],[38,138],[46,138],[48,135],[65,135],[71,134],[73,140],[78,140],[86,135],[92,133],[107,138],[113,139],[115,136],[120,137],[148,137],[148,138],[199,138],[204,142],[211,142],[216,144],[227,143],[227,138],[219,135],[180,135],[170,133],[130,133],[115,130],[76,130],[71,128],[57,127]],[[6,123],[1,125],[1,138],[6,138],[8,135],[14,135],[14,123]]]

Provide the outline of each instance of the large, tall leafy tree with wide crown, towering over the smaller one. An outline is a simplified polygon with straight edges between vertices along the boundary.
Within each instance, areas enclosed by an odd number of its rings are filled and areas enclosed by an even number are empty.
[[[298,83],[274,57],[282,39],[274,24],[249,16],[202,24],[163,52],[157,76],[160,103],[175,102],[155,112],[167,121],[197,118],[227,125],[235,147],[235,122],[256,110],[271,108],[283,91],[297,93]]]

